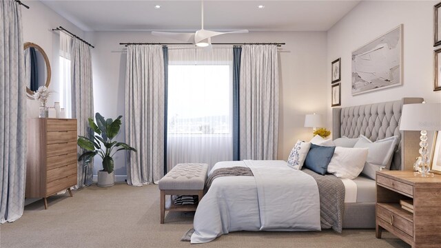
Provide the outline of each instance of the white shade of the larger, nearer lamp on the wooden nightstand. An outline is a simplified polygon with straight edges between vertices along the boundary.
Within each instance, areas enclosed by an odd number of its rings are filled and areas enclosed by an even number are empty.
[[[400,130],[441,130],[441,103],[404,104]]]

